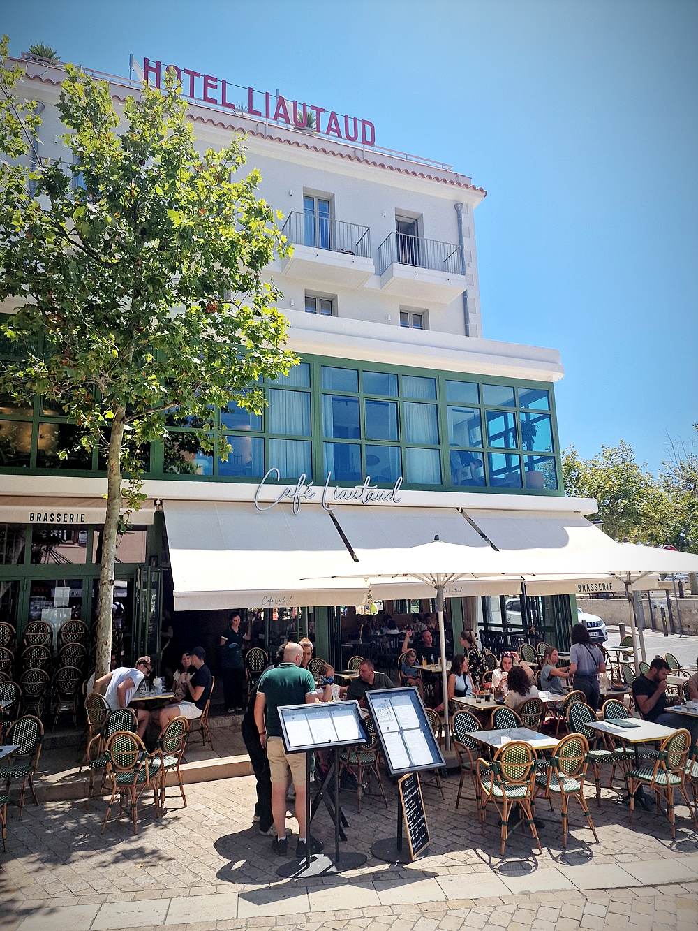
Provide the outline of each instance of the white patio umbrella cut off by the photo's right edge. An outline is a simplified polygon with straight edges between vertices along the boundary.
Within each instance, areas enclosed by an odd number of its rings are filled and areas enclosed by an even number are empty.
[[[541,560],[540,570],[524,581],[527,590],[534,591],[537,581],[575,579],[583,576],[606,576],[617,579],[624,587],[628,601],[630,630],[633,637],[635,669],[639,673],[638,638],[643,662],[647,662],[645,641],[638,618],[635,614],[633,587],[638,587],[649,575],[671,575],[676,573],[698,573],[698,556],[693,553],[679,553],[658,546],[638,546],[635,543],[614,543],[587,552],[574,553],[564,557],[550,557]]]

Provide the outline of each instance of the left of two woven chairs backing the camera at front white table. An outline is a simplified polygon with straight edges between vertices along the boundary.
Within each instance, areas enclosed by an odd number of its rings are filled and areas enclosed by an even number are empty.
[[[502,856],[509,832],[509,819],[517,804],[530,827],[538,853],[542,854],[538,831],[533,821],[533,790],[536,776],[536,753],[529,744],[514,740],[497,750],[492,762],[477,760],[477,816],[485,833],[487,805],[492,803],[502,826]]]

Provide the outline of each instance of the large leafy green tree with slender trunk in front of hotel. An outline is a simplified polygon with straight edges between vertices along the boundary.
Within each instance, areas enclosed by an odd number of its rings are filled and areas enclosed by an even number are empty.
[[[83,445],[108,449],[106,671],[120,514],[142,497],[139,451],[167,436],[173,412],[202,426],[206,448],[212,406],[235,399],[259,412],[255,384],[289,371],[280,294],[262,279],[286,246],[279,215],[256,196],[259,172],[239,172],[241,142],[196,145],[174,74],[164,92],[145,85],[117,113],[106,83],[66,65],[65,164],[37,150],[39,119],[18,95],[7,37],[0,58],[0,299],[19,304],[0,336],[32,347],[0,371],[0,391],[44,396],[79,425]]]

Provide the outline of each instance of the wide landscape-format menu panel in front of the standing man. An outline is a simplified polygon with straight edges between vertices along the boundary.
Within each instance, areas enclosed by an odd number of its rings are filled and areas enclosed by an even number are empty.
[[[286,705],[278,716],[287,753],[367,742],[356,701]]]

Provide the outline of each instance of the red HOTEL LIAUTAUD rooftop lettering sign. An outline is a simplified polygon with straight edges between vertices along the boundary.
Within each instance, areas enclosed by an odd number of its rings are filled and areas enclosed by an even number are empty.
[[[287,101],[280,94],[272,94],[268,90],[262,92],[254,88],[240,88],[239,85],[229,84],[213,74],[201,74],[190,68],[179,68],[176,64],[163,64],[162,61],[145,59],[143,78],[149,84],[153,78],[154,86],[159,89],[168,68],[177,75],[182,94],[193,101],[203,101],[225,110],[242,110],[250,116],[260,116],[297,129],[308,128],[308,115],[312,113],[315,117],[313,129],[323,136],[341,139],[342,142],[359,142],[360,137],[361,145],[376,144],[376,128],[368,119],[360,120],[357,116],[337,114],[334,110],[328,111],[315,103]],[[248,100],[244,107],[231,99],[231,94],[235,94],[236,89],[248,91]]]

